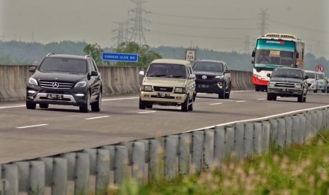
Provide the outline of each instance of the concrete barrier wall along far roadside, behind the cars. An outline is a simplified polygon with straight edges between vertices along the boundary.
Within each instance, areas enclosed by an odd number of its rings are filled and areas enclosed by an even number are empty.
[[[32,75],[30,66],[0,66],[0,102],[23,101],[26,95],[26,82]],[[139,93],[142,77],[139,71],[145,67],[99,66],[103,79],[103,95]],[[252,89],[251,72],[231,71],[233,89]]]

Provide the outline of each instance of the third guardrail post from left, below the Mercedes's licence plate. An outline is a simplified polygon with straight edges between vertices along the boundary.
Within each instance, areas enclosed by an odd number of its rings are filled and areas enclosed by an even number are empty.
[[[67,194],[68,165],[66,158],[54,158],[52,166],[52,194]]]

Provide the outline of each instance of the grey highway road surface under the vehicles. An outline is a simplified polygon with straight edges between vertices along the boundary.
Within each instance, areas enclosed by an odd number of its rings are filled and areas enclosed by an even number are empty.
[[[233,90],[225,100],[217,96],[198,94],[192,112],[161,106],[139,110],[138,95],[103,97],[102,110],[89,113],[71,106],[27,110],[25,102],[0,102],[0,164],[329,106],[326,93],[308,93],[304,103],[267,101],[266,93],[254,90]]]

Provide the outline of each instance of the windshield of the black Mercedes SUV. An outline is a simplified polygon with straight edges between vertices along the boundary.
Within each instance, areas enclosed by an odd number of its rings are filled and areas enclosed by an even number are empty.
[[[46,58],[40,71],[60,71],[69,73],[86,73],[86,61],[82,59]]]

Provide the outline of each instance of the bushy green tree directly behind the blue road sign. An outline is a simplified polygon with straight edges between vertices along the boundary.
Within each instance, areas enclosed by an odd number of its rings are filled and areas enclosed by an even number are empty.
[[[138,61],[134,63],[134,66],[147,66],[154,59],[162,58],[160,54],[152,51],[149,45],[139,46],[136,42],[122,42],[114,50],[117,53],[138,54]],[[132,66],[132,64],[128,64],[127,62],[118,62],[117,66]]]

